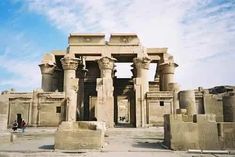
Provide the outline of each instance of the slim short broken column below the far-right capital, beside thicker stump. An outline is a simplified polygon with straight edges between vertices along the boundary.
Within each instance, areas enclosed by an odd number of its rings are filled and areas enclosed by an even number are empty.
[[[176,114],[176,110],[179,109],[179,91],[180,87],[178,83],[169,83],[169,90],[173,92],[173,104],[171,108],[171,113]]]

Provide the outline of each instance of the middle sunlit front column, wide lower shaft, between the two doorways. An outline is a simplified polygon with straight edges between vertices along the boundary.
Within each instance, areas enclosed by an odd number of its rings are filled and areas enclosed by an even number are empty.
[[[114,126],[113,78],[114,58],[102,57],[98,60],[101,78],[97,78],[96,118],[104,121],[107,127]]]

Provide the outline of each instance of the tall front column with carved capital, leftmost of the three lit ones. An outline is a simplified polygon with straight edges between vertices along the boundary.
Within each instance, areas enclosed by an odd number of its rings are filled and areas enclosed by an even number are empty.
[[[66,120],[76,121],[77,113],[77,91],[78,79],[76,79],[76,69],[78,67],[78,59],[72,54],[66,54],[61,59],[64,69],[64,92],[66,98]]]

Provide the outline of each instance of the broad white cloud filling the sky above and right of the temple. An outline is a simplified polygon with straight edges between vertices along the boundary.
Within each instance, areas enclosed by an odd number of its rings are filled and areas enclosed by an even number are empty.
[[[176,78],[183,88],[235,83],[229,54],[235,51],[233,1],[25,1],[30,11],[65,33],[136,32],[144,46],[169,47],[180,65]]]

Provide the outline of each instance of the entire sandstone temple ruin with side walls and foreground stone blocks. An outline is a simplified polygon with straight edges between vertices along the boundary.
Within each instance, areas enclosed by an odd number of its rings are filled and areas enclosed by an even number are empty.
[[[131,77],[116,76],[119,63],[131,64]],[[174,150],[235,148],[235,90],[180,91],[167,48],[146,48],[136,34],[106,41],[104,34],[72,33],[66,50],[45,54],[39,67],[41,89],[2,93],[0,132],[25,119],[58,126],[56,149],[89,149],[103,146],[105,127],[164,126],[164,144]]]

